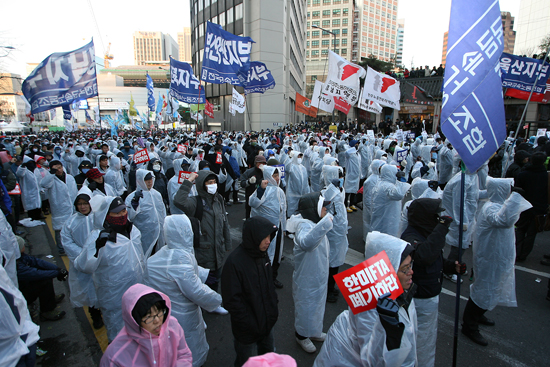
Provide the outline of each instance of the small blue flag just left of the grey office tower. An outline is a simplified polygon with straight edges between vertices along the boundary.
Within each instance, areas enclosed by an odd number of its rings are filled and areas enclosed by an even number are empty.
[[[204,103],[204,89],[191,65],[170,58],[170,96],[184,103]],[[200,94],[200,97],[199,97]]]

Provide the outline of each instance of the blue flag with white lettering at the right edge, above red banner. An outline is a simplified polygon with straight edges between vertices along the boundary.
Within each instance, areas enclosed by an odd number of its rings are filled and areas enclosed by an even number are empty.
[[[503,52],[500,57],[500,70],[502,72],[502,86],[504,88],[531,92],[535,79],[538,77],[533,93],[544,94],[546,91],[546,81],[550,74],[550,65],[546,63],[542,66],[542,60]]]

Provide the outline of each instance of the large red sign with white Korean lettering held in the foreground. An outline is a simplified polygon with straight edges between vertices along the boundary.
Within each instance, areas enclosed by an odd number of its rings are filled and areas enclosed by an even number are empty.
[[[378,297],[391,293],[396,299],[403,288],[386,251],[334,276],[354,315],[376,307]]]

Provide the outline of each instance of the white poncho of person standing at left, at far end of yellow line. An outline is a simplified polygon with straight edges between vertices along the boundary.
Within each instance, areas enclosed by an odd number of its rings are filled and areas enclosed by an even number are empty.
[[[46,190],[50,200],[52,227],[55,231],[60,231],[74,213],[74,199],[78,192],[76,182],[68,173],[65,174],[65,182],[63,182],[59,177],[48,172],[40,182],[40,186]]]

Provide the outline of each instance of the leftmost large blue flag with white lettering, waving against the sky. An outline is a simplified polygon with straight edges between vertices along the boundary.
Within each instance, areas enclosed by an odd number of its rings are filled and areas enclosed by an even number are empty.
[[[46,57],[23,81],[31,112],[43,112],[97,96],[94,42]]]

